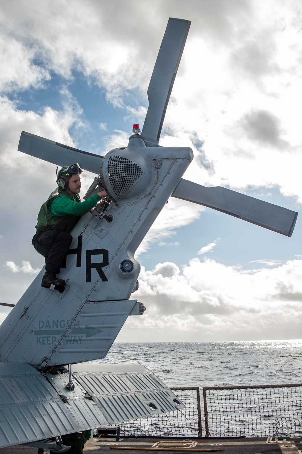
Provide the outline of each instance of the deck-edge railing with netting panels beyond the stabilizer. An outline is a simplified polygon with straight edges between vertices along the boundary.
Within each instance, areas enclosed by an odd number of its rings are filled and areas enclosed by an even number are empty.
[[[185,409],[121,424],[128,436],[302,436],[302,384],[171,387]],[[203,398],[204,418],[200,410]]]

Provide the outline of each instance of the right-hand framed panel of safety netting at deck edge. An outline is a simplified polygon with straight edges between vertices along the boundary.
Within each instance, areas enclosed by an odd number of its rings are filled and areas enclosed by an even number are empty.
[[[203,388],[205,436],[302,435],[302,384]]]

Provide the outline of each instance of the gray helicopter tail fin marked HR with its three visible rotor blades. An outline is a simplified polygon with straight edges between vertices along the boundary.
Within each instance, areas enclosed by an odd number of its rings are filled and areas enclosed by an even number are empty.
[[[226,188],[205,188],[184,180],[192,150],[158,146],[189,27],[189,21],[168,21],[148,89],[149,109],[142,129],[146,141],[133,134],[127,147],[103,158],[21,134],[20,151],[62,166],[78,162],[100,175],[111,203],[105,213],[94,209],[85,214],[73,228],[66,267],[60,273],[67,282],[65,291],[42,288],[42,269],[0,326],[1,361],[26,362],[43,370],[106,356],[127,316],[141,313],[139,303],[129,301],[140,272],[134,254],[171,195],[292,234],[296,212]],[[121,270],[123,260],[132,261],[131,273]]]

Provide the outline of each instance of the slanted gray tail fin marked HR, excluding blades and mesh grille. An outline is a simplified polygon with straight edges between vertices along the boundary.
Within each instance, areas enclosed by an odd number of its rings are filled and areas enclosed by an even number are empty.
[[[113,150],[103,160],[106,169],[111,157],[140,166],[143,178],[107,208],[112,222],[97,210],[78,221],[60,273],[65,291],[41,287],[43,268],[0,326],[1,361],[39,367],[103,358],[135,306],[127,301],[140,272],[134,253],[193,155],[190,148]],[[126,259],[134,263],[131,273],[120,269]]]

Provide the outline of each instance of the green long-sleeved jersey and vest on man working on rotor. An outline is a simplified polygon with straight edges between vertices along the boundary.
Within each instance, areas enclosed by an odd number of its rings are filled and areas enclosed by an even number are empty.
[[[57,188],[43,203],[38,214],[37,230],[57,228],[63,232],[70,232],[80,216],[96,206],[100,197],[94,194],[81,202],[78,194],[72,196],[69,192]]]

